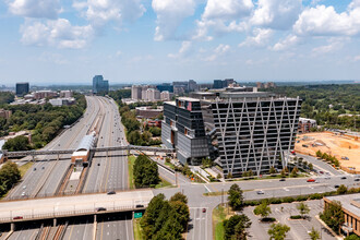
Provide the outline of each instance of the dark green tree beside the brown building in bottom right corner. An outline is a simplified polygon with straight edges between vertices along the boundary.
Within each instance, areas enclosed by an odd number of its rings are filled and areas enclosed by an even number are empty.
[[[335,232],[339,231],[340,226],[345,220],[341,203],[339,201],[333,201],[332,203],[328,203],[324,212],[320,214],[320,217]]]

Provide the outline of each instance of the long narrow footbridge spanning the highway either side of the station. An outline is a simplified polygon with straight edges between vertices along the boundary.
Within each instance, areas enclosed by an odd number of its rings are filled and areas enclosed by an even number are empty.
[[[4,158],[8,157],[26,157],[40,155],[63,155],[63,154],[73,154],[76,149],[50,149],[50,151],[20,151],[20,152],[8,152],[3,151]],[[135,146],[135,145],[122,145],[122,146],[109,146],[109,147],[94,147],[91,148],[91,153],[96,152],[115,152],[115,151],[141,151],[141,152],[154,152],[154,153],[166,153],[173,154],[173,148],[163,148],[163,147],[153,147],[153,146]]]

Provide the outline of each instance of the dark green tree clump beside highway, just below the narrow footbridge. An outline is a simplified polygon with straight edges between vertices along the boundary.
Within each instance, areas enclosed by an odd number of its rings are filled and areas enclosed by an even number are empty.
[[[146,155],[139,155],[134,163],[134,183],[136,188],[154,187],[159,182],[156,163]]]

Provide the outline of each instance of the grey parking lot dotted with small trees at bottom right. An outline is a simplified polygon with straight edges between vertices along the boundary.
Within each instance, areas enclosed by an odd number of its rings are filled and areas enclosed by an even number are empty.
[[[299,211],[297,209],[298,203],[284,203],[284,204],[274,204],[271,205],[272,214],[271,217],[276,218],[280,224],[286,224],[290,227],[290,231],[287,233],[286,239],[288,240],[304,240],[311,239],[309,237],[309,232],[312,227],[315,228],[319,232],[321,232],[321,237],[323,240],[334,240],[333,237],[325,228],[323,228],[320,221],[315,218],[320,212],[323,211],[323,201],[314,200],[304,202],[310,207],[310,213],[308,216],[309,219],[298,219],[291,220],[289,219],[291,215],[299,215]],[[255,207],[245,207],[243,213],[251,219],[252,225],[249,230],[250,237],[249,239],[268,239],[267,230],[269,229],[272,224],[263,224],[260,220],[260,216],[254,215],[253,209]]]

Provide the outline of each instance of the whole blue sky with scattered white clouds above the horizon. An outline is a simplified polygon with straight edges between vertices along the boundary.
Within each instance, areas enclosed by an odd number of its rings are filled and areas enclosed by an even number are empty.
[[[360,79],[360,0],[0,0],[0,85]]]

